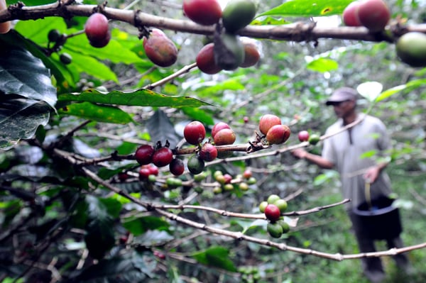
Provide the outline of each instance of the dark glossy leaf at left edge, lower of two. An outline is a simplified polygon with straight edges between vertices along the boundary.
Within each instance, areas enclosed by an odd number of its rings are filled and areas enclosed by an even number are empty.
[[[50,107],[43,101],[4,99],[0,93],[0,149],[9,149],[22,138],[32,138],[38,126],[45,126]]]

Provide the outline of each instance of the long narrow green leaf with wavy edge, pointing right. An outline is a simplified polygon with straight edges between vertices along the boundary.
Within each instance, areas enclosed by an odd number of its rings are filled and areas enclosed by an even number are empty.
[[[80,94],[61,94],[59,101],[89,101],[99,104],[117,104],[126,106],[152,107],[199,107],[211,105],[189,96],[168,96],[148,89],[139,89],[132,92],[111,91],[107,94],[96,89],[87,89]]]

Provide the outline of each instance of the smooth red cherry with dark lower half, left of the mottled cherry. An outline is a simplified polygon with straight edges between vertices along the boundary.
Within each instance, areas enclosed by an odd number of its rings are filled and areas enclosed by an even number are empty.
[[[94,13],[87,18],[84,25],[84,33],[90,45],[95,48],[103,48],[107,46],[111,39],[111,32],[108,27],[108,18],[102,13]]]

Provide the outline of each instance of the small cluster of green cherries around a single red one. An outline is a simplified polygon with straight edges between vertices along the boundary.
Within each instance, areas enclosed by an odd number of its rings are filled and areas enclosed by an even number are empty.
[[[287,210],[287,205],[287,201],[277,194],[271,194],[266,201],[259,204],[259,210],[265,213],[269,221],[266,230],[273,238],[280,238],[283,233],[290,231],[290,226],[281,217],[281,214]]]

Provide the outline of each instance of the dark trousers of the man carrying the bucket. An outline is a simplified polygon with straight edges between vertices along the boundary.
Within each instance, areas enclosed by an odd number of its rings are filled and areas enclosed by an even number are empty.
[[[351,218],[352,226],[354,228],[354,234],[356,241],[358,242],[359,251],[361,253],[376,252],[376,245],[373,239],[368,238],[366,233],[363,233],[362,221],[359,221],[354,213],[348,212],[349,218]],[[398,236],[397,238],[386,239],[388,248],[403,248],[403,240]],[[410,267],[410,262],[405,254],[394,255],[396,265],[407,270]],[[380,257],[363,257],[361,258],[361,265],[363,272],[370,279],[371,282],[381,282],[385,278],[385,272]]]

